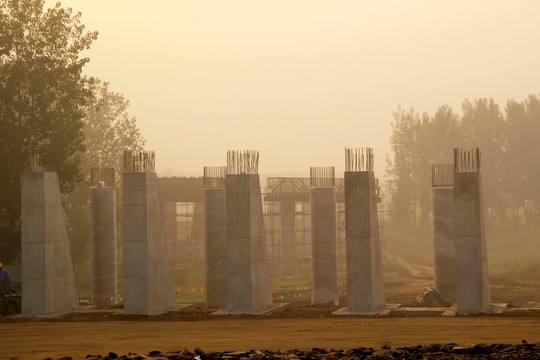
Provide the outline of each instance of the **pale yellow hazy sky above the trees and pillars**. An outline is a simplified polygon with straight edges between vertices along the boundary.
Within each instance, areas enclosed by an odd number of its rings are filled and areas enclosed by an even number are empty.
[[[161,175],[243,149],[262,174],[339,174],[345,147],[370,146],[383,177],[397,106],[540,93],[536,0],[62,4],[99,31],[85,72],[130,100]]]

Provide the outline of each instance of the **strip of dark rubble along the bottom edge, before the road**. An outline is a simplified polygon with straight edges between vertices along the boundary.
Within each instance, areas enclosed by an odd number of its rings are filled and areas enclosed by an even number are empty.
[[[69,360],[62,358],[59,360]],[[165,352],[151,351],[147,355],[133,354],[118,356],[88,355],[87,360],[368,360],[368,359],[540,359],[540,343],[530,344],[478,344],[458,346],[450,344],[417,345],[410,347],[383,346],[381,349],[359,347],[350,350],[325,350],[313,348],[309,351],[249,350],[235,352],[204,352],[201,349]]]

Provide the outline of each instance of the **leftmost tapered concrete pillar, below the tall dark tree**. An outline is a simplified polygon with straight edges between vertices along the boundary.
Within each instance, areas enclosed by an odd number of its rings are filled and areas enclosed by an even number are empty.
[[[78,306],[64,209],[55,172],[21,176],[22,314],[62,314]]]

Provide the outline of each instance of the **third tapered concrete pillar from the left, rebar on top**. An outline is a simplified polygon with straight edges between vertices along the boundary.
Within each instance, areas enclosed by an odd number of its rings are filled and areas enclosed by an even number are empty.
[[[228,310],[231,313],[253,313],[272,306],[261,186],[257,169],[257,152],[228,153]]]

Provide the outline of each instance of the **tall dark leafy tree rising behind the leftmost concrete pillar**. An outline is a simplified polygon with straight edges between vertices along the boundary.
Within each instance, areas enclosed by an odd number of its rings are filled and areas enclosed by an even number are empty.
[[[0,258],[20,256],[20,176],[39,155],[60,190],[81,180],[83,115],[91,91],[81,76],[97,32],[81,14],[44,0],[0,0]]]

